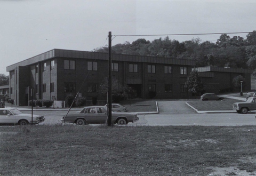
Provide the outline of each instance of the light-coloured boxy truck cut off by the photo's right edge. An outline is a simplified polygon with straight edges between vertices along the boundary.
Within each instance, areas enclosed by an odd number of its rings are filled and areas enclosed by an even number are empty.
[[[233,109],[237,113],[246,114],[248,111],[256,110],[256,97],[249,97],[244,102],[235,102],[233,103]]]

